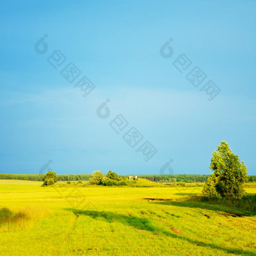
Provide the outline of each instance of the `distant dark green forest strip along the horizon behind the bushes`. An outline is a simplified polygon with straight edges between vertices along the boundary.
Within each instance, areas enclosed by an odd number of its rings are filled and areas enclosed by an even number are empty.
[[[120,178],[128,178],[129,175],[119,175]],[[89,181],[91,174],[70,174],[57,175],[57,181]],[[138,178],[146,178],[150,181],[175,183],[175,182],[205,182],[209,175],[138,175]],[[23,181],[44,181],[44,175],[41,174],[8,174],[0,173],[0,179],[17,179]],[[255,182],[256,175],[248,175],[248,182]]]

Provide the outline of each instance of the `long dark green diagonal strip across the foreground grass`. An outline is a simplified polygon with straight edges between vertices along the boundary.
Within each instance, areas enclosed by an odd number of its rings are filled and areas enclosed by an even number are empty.
[[[230,254],[244,254],[244,255],[252,255],[256,256],[256,253],[253,251],[244,251],[242,249],[238,248],[225,248],[220,245],[215,245],[212,243],[208,242],[200,242],[194,239],[191,239],[190,237],[186,237],[184,235],[178,235],[175,233],[171,233],[169,231],[163,230],[160,227],[154,226],[152,221],[148,218],[138,218],[138,217],[133,217],[133,216],[127,216],[127,215],[120,215],[114,212],[98,212],[98,211],[86,211],[86,210],[79,210],[79,209],[66,209],[68,211],[72,211],[75,215],[84,215],[88,216],[90,218],[99,218],[102,221],[106,221],[108,223],[111,222],[120,222],[121,224],[125,226],[130,226],[134,227],[138,230],[147,230],[151,233],[158,233],[158,234],[163,234],[169,237],[172,237],[174,239],[181,239],[186,242],[190,242],[194,245],[197,246],[202,246],[202,247],[210,247],[210,248],[215,248],[221,251],[225,251],[226,253]]]

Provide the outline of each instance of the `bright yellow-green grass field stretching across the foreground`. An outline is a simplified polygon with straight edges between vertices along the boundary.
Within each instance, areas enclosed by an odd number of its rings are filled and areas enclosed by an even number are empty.
[[[188,199],[202,187],[41,184],[0,180],[1,255],[256,255],[255,212]]]

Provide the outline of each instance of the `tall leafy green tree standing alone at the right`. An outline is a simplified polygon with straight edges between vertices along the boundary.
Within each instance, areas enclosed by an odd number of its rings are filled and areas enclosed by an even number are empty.
[[[247,167],[230,149],[227,142],[221,142],[212,154],[210,175],[203,187],[203,195],[239,200],[245,194],[243,187],[247,179]]]

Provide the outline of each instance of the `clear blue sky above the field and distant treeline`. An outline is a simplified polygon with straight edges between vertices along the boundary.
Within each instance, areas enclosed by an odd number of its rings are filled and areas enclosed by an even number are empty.
[[[162,173],[209,174],[224,140],[256,175],[255,11],[254,1],[2,1],[0,172],[38,173],[52,160],[59,174],[160,174],[172,159]],[[55,50],[66,58],[57,69]],[[81,72],[72,83],[60,74],[69,62]],[[206,75],[197,87],[187,79],[196,66]],[[83,76],[95,85],[85,97],[74,87]],[[210,80],[221,90],[212,100],[201,90]],[[132,127],[143,136],[134,147],[123,139]],[[148,161],[145,142],[157,150]]]

